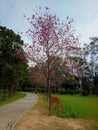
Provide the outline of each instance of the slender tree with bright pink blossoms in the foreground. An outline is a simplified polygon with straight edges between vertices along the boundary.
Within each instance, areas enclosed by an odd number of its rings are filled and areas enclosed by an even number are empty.
[[[30,29],[26,32],[31,38],[31,44],[24,44],[29,61],[41,65],[45,63],[45,74],[47,81],[47,90],[49,96],[49,115],[52,114],[51,100],[51,74],[53,73],[52,62],[57,59],[51,57],[64,57],[66,47],[75,45],[78,42],[74,36],[74,30],[71,26],[73,19],[66,17],[64,22],[49,11],[48,7],[42,13],[39,12],[27,18],[30,23]],[[55,64],[56,65],[56,64]],[[54,66],[55,66],[54,65]]]

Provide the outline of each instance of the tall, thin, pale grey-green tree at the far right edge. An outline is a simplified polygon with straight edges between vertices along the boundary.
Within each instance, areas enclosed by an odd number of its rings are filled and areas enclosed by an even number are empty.
[[[89,80],[92,83],[92,89],[94,89],[94,80],[97,74],[97,66],[98,66],[98,37],[91,37],[91,42],[89,44],[85,44],[85,54],[88,59],[89,65]],[[92,92],[91,92],[92,93]]]

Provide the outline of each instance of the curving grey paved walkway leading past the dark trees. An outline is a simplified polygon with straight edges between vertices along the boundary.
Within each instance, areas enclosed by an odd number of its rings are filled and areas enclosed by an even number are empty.
[[[15,122],[37,102],[38,97],[26,93],[23,99],[0,107],[0,130],[12,130]]]

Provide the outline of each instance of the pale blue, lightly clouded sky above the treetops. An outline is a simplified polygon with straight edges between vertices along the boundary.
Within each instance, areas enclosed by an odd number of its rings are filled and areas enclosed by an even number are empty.
[[[45,6],[61,19],[74,19],[74,29],[81,43],[89,43],[89,37],[98,36],[98,0],[0,0],[0,25],[17,32],[25,32],[30,25],[23,15],[30,17]],[[24,41],[26,36],[22,36]]]

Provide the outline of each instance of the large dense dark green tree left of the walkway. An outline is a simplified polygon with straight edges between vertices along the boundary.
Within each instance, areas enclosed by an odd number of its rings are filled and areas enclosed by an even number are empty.
[[[14,94],[27,69],[22,45],[23,41],[19,35],[0,26],[0,86],[3,89],[3,100],[7,95]]]

